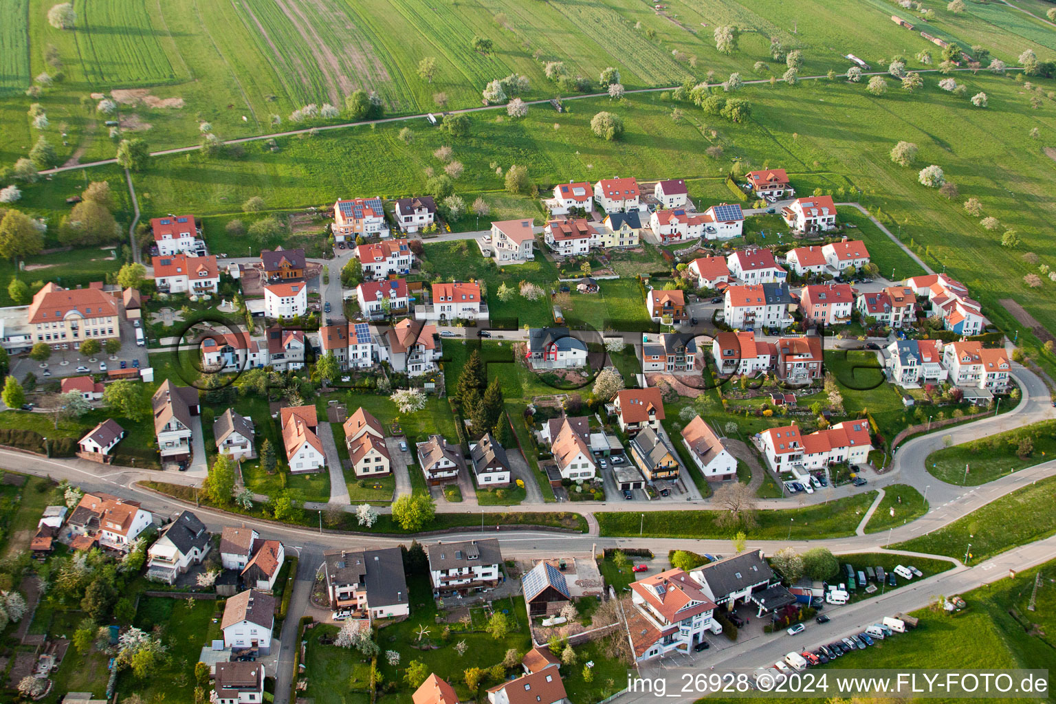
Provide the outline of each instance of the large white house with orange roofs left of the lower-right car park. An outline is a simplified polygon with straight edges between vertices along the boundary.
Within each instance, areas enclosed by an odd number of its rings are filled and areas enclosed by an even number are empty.
[[[627,632],[637,662],[672,652],[689,654],[705,632],[722,632],[713,619],[715,603],[684,570],[674,568],[631,583],[630,601]]]

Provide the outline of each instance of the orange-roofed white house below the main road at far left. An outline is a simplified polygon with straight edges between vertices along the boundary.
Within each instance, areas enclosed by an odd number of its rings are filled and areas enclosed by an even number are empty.
[[[93,492],[80,497],[67,521],[67,535],[74,550],[100,548],[127,553],[151,524],[151,515],[138,501]]]

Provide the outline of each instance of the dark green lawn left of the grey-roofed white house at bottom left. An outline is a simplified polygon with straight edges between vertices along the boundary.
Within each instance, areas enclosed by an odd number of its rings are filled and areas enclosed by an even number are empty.
[[[197,600],[188,606],[187,600],[140,596],[133,625],[148,632],[163,624],[162,642],[168,647],[168,658],[145,679],[131,670],[117,678],[120,691],[137,691],[146,700],[164,692],[171,701],[193,701],[194,664],[202,646],[222,638],[219,617],[223,611],[216,602]]]

